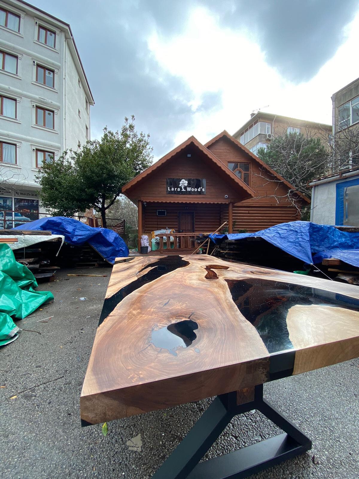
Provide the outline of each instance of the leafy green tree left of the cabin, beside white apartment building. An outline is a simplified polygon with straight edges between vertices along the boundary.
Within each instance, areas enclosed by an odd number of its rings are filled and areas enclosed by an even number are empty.
[[[94,208],[106,228],[106,211],[121,188],[148,168],[152,158],[149,135],[137,133],[134,116],[125,118],[120,132],[105,127],[101,140],[87,141],[42,165],[36,175],[41,204],[60,216]]]

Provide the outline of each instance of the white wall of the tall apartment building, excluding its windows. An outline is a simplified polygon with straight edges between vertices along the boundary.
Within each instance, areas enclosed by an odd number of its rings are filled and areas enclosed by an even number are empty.
[[[39,190],[35,149],[54,152],[56,158],[66,148],[78,148],[79,141],[86,141],[86,125],[90,137],[90,111],[84,85],[78,84],[84,77],[67,26],[16,0],[0,0],[0,6],[21,16],[20,32],[0,25],[0,50],[18,57],[17,75],[0,69],[0,95],[17,101],[16,119],[0,115],[0,141],[17,146],[17,164],[0,163],[0,175],[12,185],[12,193],[2,196],[29,198],[29,192]],[[37,41],[39,24],[56,33],[55,48]],[[55,88],[35,81],[36,64],[55,71]],[[54,130],[35,125],[36,105],[55,112]]]

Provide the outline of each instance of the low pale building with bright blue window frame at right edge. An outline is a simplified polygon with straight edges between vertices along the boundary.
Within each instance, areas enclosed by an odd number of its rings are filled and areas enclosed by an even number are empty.
[[[310,186],[311,221],[320,225],[359,226],[359,168],[318,178]]]

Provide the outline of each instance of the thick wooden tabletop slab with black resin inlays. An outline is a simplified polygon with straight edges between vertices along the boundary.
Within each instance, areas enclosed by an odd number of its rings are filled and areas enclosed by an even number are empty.
[[[359,356],[359,288],[207,255],[118,258],[80,399],[95,424]]]

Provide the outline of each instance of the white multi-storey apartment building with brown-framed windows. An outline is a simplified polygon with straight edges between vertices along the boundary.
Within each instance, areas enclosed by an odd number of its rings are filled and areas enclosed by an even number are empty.
[[[34,176],[90,139],[93,104],[70,25],[0,0],[0,228],[45,212]]]

